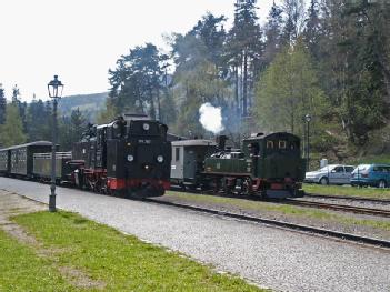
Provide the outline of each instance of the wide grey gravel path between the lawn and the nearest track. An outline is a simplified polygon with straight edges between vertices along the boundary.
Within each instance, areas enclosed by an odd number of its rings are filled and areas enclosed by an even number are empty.
[[[49,185],[0,178],[48,201]],[[276,291],[390,291],[390,252],[120,198],[58,188],[58,207],[181,251]]]

